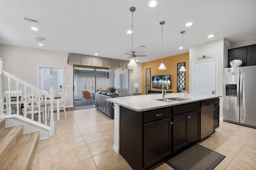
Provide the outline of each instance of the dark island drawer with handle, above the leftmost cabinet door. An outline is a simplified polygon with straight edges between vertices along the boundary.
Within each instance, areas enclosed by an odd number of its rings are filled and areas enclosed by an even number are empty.
[[[171,112],[172,112],[171,108],[160,109],[160,110],[151,111],[151,112],[145,112],[144,113],[144,123],[171,117]]]

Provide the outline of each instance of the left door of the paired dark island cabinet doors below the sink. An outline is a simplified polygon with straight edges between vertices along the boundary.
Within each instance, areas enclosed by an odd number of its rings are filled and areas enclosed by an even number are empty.
[[[173,117],[173,151],[186,146],[187,113]]]

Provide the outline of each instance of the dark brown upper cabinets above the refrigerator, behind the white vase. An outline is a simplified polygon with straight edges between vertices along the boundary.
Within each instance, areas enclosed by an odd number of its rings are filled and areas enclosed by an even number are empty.
[[[228,49],[228,67],[233,59],[242,60],[242,66],[256,65],[256,44]]]

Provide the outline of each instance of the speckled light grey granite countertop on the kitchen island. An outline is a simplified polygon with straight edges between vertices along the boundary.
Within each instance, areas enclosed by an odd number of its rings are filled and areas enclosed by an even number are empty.
[[[153,109],[159,109],[164,107],[182,105],[187,103],[193,103],[196,101],[203,101],[207,99],[215,99],[221,96],[212,96],[212,95],[196,95],[192,93],[167,93],[164,95],[164,98],[169,97],[180,97],[186,98],[189,100],[185,101],[174,101],[174,102],[165,102],[158,101],[156,99],[162,99],[162,94],[151,94],[151,95],[136,95],[136,96],[126,96],[126,97],[117,97],[109,98],[106,101],[126,107],[128,109],[134,110],[136,112],[149,111]]]

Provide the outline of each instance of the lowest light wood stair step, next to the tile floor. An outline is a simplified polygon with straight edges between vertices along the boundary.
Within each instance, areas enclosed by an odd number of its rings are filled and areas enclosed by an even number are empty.
[[[39,141],[39,131],[23,134],[1,169],[30,169]]]

